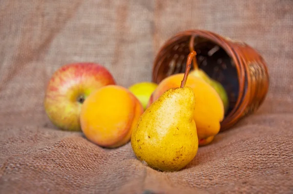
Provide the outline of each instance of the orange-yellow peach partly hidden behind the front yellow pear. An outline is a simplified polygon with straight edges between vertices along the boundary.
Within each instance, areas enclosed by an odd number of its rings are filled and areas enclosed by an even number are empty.
[[[149,99],[147,107],[170,88],[180,87],[184,74],[175,74],[163,79]],[[194,121],[198,139],[207,139],[210,143],[220,131],[220,122],[224,119],[224,105],[218,95],[207,82],[201,78],[188,76],[186,86],[193,89],[195,97]]]

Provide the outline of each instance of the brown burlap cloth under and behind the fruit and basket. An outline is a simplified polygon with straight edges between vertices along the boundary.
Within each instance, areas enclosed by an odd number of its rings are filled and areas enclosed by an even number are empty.
[[[0,193],[293,193],[292,10],[292,0],[1,0]],[[126,87],[149,81],[160,46],[192,28],[256,48],[271,84],[260,110],[186,169],[157,172],[129,143],[102,149],[46,117],[45,85],[63,64],[102,63]]]

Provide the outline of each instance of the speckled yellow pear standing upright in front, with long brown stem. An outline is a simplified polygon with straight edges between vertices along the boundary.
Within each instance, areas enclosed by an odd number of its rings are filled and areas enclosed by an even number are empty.
[[[162,171],[184,168],[198,151],[198,137],[193,119],[193,90],[185,87],[191,59],[181,87],[170,88],[154,101],[140,117],[131,136],[132,149],[141,161]]]

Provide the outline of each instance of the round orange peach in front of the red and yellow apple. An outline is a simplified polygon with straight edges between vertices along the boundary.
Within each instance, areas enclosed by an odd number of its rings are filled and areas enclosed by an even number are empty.
[[[126,144],[144,108],[126,88],[108,85],[90,94],[82,105],[80,122],[84,136],[107,148]]]

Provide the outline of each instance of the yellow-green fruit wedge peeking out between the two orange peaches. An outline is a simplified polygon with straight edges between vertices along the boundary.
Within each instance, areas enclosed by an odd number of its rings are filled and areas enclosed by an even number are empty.
[[[158,84],[153,82],[139,82],[131,85],[128,89],[138,100],[142,103],[144,109],[146,110],[146,105],[149,97],[157,88]]]

